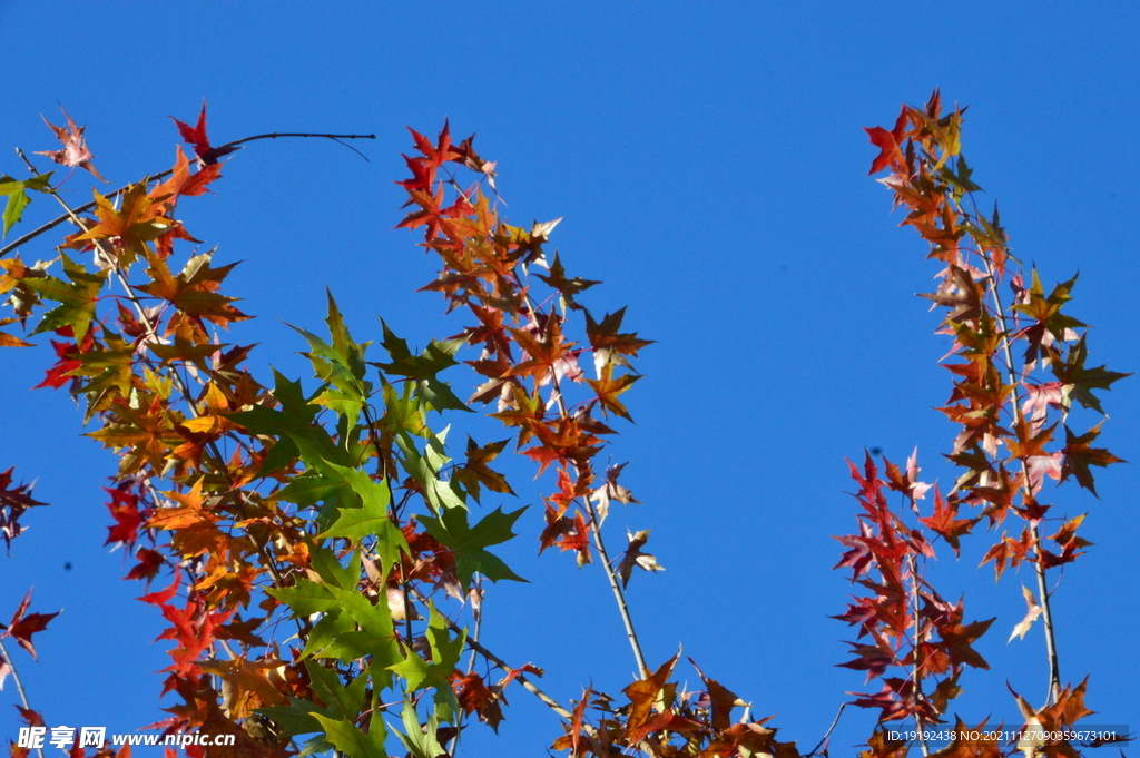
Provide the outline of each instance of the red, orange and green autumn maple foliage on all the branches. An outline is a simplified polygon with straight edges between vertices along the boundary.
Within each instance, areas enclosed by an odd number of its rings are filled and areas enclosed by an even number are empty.
[[[1062,728],[1089,712],[1085,684],[1060,680],[1049,603],[1049,572],[1089,545],[1078,535],[1084,516],[1061,515],[1043,487],[1073,479],[1094,491],[1093,467],[1118,462],[1097,447],[1100,424],[1074,430],[1069,411],[1076,404],[1102,413],[1094,392],[1124,374],[1088,365],[1085,325],[1065,310],[1075,280],[1047,294],[1013,258],[996,210],[978,210],[960,148],[962,113],[944,113],[936,92],[922,108],[905,106],[891,130],[868,130],[880,149],[871,172],[888,172],[881,181],[903,223],[942,267],[925,296],[944,312],[939,332],[951,343],[942,411],[959,430],[948,457],[960,475],[942,491],[920,481],[913,457],[899,466],[866,455],[850,466],[857,529],[838,537],[837,568],[850,572],[856,595],[837,618],[855,637],[841,665],[874,684],[852,701],[880,725],[866,758],[926,755],[925,741],[891,740],[882,725],[948,724],[963,677],[987,668],[974,644],[993,619],[971,618],[964,601],[945,600],[926,578],[936,549],[956,555],[964,539],[992,543],[986,562],[999,578],[1023,565],[1035,577],[1015,634],[1040,620],[1051,695],[1041,708],[1013,695],[1026,725]],[[83,129],[70,116],[66,124],[52,127],[63,149],[42,154],[98,177]],[[236,736],[210,756],[335,749],[437,758],[451,755],[474,722],[496,728],[507,693],[527,688],[561,720],[551,749],[576,758],[826,752],[826,735],[798,745],[771,718],[754,718],[746,698],[682,663],[682,653],[645,660],[625,588],[634,571],[661,567],[645,549],[649,530],[627,535],[620,549],[606,546],[610,508],[636,499],[621,483],[624,465],[604,462],[614,427],[630,419],[626,393],[651,342],[626,325],[625,309],[589,310],[598,283],[570,275],[545,248],[557,221],[511,226],[499,213],[496,164],[471,138],[453,140],[446,124],[434,140],[412,131],[409,176],[399,181],[407,204],[393,221],[438,262],[423,290],[463,312],[466,326],[416,353],[384,324],[368,354],[372,343],[353,339],[329,294],[320,333],[294,327],[314,381],[254,376],[253,347],[237,336],[250,317],[225,288],[235,264],[186,254],[197,241],[177,212],[229,170],[221,158],[260,137],[214,146],[204,107],[193,128],[176,125],[193,157],[177,148],[169,171],[106,195],[96,189],[83,207],[64,204],[32,163],[30,179],[0,180],[6,235],[36,195],[63,204],[74,227],[46,263],[22,256],[46,228],[0,253],[10,309],[0,347],[48,334],[52,359],[39,386],[79,400],[95,425],[89,435],[117,458],[103,495],[106,544],[133,556],[127,578],[142,582],[140,600],[169,641],[155,693],[169,717],[153,728]],[[474,382],[457,372],[441,378],[461,365]],[[456,388],[469,384],[464,400]],[[471,410],[500,422],[506,439],[446,439],[441,417]],[[487,582],[519,579],[495,547],[516,537],[522,511],[488,503],[514,492],[496,468],[512,451],[544,474],[545,528],[530,537],[579,567],[596,564],[621,611],[640,675],[620,692],[588,688],[563,706],[537,686],[540,662],[508,662],[508,651],[478,638]],[[6,545],[42,505],[10,468],[0,474]],[[32,637],[55,614],[31,613],[30,603],[31,593],[0,625],[0,641],[34,655]],[[474,655],[462,660],[469,650]],[[678,686],[682,666],[699,688]],[[11,669],[3,650],[0,683]],[[22,714],[40,723],[28,698]],[[1072,756],[1080,747],[1032,740],[956,741],[938,755]]]

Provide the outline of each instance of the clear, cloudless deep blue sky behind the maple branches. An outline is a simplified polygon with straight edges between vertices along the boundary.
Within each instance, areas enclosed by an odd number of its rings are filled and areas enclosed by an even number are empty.
[[[829,570],[830,535],[854,525],[844,458],[878,447],[901,462],[917,445],[928,478],[955,478],[939,463],[953,430],[934,410],[950,390],[936,365],[947,344],[913,295],[936,269],[868,179],[874,149],[861,128],[889,125],[935,87],[969,104],[964,152],[1015,253],[1047,284],[1080,270],[1072,312],[1096,327],[1090,361],[1134,370],[1138,35],[1140,8],[1123,2],[0,2],[0,147],[55,149],[40,114],[58,123],[63,105],[119,186],[170,165],[168,116],[193,120],[203,98],[215,142],[375,132],[368,163],[319,141],[256,144],[214,196],[180,209],[219,245],[215,261],[244,261],[230,292],[262,318],[235,337],[261,343],[263,369],[301,376],[302,344],[282,321],[318,327],[326,285],[359,340],[378,339],[377,315],[413,343],[458,331],[415,292],[434,269],[414,235],[392,229],[402,199],[391,182],[405,172],[406,124],[433,133],[448,117],[455,133],[478,132],[511,220],[563,217],[552,244],[568,270],[605,282],[592,308],[628,305],[626,324],[657,340],[646,378],[624,396],[637,423],[614,451],[644,505],[611,516],[611,539],[652,528],[668,569],[630,585],[649,658],[683,643],[756,714],[779,712],[784,739],[813,745],[844,693],[863,690],[834,667],[849,635],[826,618],[848,592]],[[22,165],[0,153],[0,171]],[[67,189],[85,202],[87,186],[76,176]],[[27,218],[50,213],[36,201]],[[23,254],[52,255],[47,243]],[[121,554],[101,547],[113,459],[79,437],[65,394],[26,390],[47,361],[42,348],[0,358],[0,470],[38,479],[52,504],[0,557],[0,618],[32,585],[34,610],[64,609],[36,637],[38,663],[15,653],[34,706],[49,724],[128,731],[163,716],[154,671],[166,658],[150,644],[162,623],[120,579]],[[1129,460],[1140,460],[1138,388],[1121,382],[1105,402],[1101,440]],[[549,482],[513,473],[520,498],[504,505],[539,503]],[[1057,495],[1069,514],[1090,513],[1096,543],[1057,593],[1062,678],[1090,674],[1092,720],[1133,728],[1138,478],[1115,466],[1098,478],[1100,500],[1072,486]],[[532,584],[494,588],[484,639],[546,668],[562,701],[589,684],[620,688],[633,661],[604,577],[535,556],[540,510],[504,551]],[[1037,628],[1005,644],[1028,577],[995,587],[975,568],[984,548],[975,538],[937,567],[944,595],[961,587],[971,617],[999,617],[979,645],[992,670],[966,675],[956,710],[1009,723],[1007,680],[1034,701],[1044,692],[1043,642]],[[0,693],[0,737],[15,736],[15,698],[10,685]],[[472,730],[465,755],[540,755],[561,733],[521,690],[511,703],[498,741]],[[833,755],[872,722],[849,709]]]

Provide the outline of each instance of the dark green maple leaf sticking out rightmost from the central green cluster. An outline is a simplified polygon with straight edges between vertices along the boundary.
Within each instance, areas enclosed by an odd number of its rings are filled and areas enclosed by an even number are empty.
[[[503,579],[527,581],[507,568],[502,559],[486,549],[491,545],[500,545],[515,537],[511,528],[526,510],[524,506],[513,513],[504,513],[503,508],[495,508],[474,528],[467,524],[467,512],[463,508],[447,508],[438,519],[421,516],[420,523],[424,525],[427,533],[447,546],[455,555],[455,572],[463,584],[463,588],[467,589],[471,586],[471,576],[475,571],[491,581]]]

